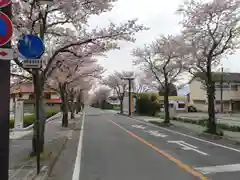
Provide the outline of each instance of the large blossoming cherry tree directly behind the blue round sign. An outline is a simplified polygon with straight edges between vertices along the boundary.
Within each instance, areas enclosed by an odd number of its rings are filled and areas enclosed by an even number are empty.
[[[40,0],[14,0],[13,44],[22,34],[38,34],[45,44],[45,54],[41,58],[43,67],[40,71],[25,69],[33,75],[34,91],[36,96],[42,101],[43,87],[47,79],[58,64],[58,56],[68,53],[76,57],[85,56],[82,48],[91,49],[93,54],[98,54],[99,50],[106,52],[118,47],[119,41],[134,42],[136,32],[145,30],[142,25],[138,25],[137,20],[129,20],[126,23],[115,25],[110,23],[107,28],[89,29],[88,19],[92,15],[100,15],[110,11],[116,0],[54,0],[53,5],[43,5]],[[80,52],[79,52],[79,49]],[[94,51],[93,51],[94,50]],[[86,52],[85,52],[86,53]],[[15,63],[22,67],[21,59],[16,58]],[[39,104],[39,103],[38,103]],[[44,110],[43,102],[40,109],[40,141],[41,151],[44,145]],[[36,147],[36,128],[34,128],[33,147]],[[35,144],[35,145],[34,145]],[[33,154],[36,153],[33,148]]]

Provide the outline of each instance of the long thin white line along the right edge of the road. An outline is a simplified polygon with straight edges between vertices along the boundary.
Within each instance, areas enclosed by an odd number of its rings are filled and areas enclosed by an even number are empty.
[[[129,117],[127,117],[127,118],[129,118]],[[152,127],[157,127],[157,128],[159,128],[159,129],[162,129],[162,130],[165,130],[165,131],[174,133],[174,134],[179,134],[179,135],[181,135],[181,136],[185,136],[185,137],[188,137],[188,138],[191,138],[191,139],[195,139],[195,140],[198,140],[198,141],[201,141],[201,142],[204,142],[204,143],[208,143],[208,144],[211,144],[211,145],[214,145],[214,146],[218,146],[218,147],[221,147],[221,148],[225,148],[225,149],[232,150],[232,151],[235,151],[235,152],[239,152],[239,153],[240,153],[240,150],[239,150],[239,149],[236,149],[236,148],[224,146],[224,145],[222,145],[222,144],[218,144],[218,143],[214,143],[214,142],[207,141],[207,140],[204,140],[204,139],[200,139],[200,138],[197,138],[197,137],[188,135],[188,134],[180,133],[180,132],[178,132],[178,131],[173,131],[173,130],[170,130],[170,129],[167,129],[167,128],[155,126],[155,125],[150,124],[150,123],[148,123],[148,122],[145,122],[145,121],[143,121],[143,120],[138,120],[138,119],[134,119],[134,118],[129,118],[129,119],[132,119],[132,120],[134,120],[134,121],[137,121],[137,122],[141,122],[141,123],[150,125],[150,126],[152,126]]]

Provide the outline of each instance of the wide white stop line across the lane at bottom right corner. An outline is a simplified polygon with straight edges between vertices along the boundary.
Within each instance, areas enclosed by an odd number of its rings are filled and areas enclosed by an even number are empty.
[[[240,171],[240,164],[229,164],[221,166],[208,166],[194,168],[202,174],[219,173],[219,172],[237,172]]]

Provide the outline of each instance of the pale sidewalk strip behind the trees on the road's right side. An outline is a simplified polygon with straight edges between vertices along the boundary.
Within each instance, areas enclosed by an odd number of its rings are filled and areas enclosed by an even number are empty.
[[[149,121],[163,122],[163,119],[156,118],[156,117],[136,116],[136,118],[144,120],[146,122],[149,122]],[[183,122],[174,121],[174,120],[171,120],[171,123],[173,125],[175,125],[176,127],[183,127],[183,128],[186,128],[186,129],[191,130],[191,131],[193,131],[195,133],[198,133],[198,134],[202,133],[206,129],[203,126],[199,126],[199,125],[196,125],[196,124],[183,123]],[[232,132],[232,131],[225,131],[224,130],[224,136],[226,136],[227,138],[230,138],[234,141],[239,141],[240,142],[240,133],[239,132]]]

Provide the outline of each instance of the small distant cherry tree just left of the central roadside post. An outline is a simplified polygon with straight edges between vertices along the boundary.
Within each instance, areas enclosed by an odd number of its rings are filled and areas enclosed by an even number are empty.
[[[132,71],[115,71],[113,74],[107,76],[102,83],[117,93],[118,99],[120,100],[120,113],[123,113],[123,99],[125,92],[128,89],[128,81],[122,78],[132,77],[134,73]]]

